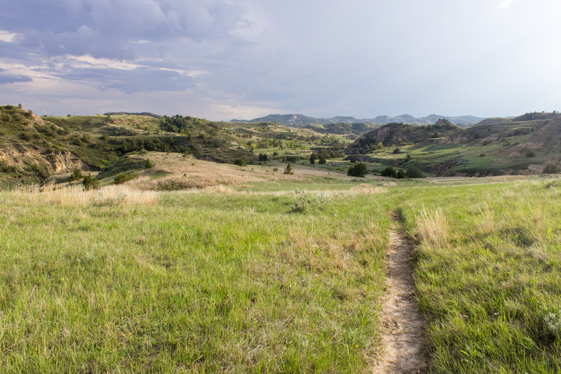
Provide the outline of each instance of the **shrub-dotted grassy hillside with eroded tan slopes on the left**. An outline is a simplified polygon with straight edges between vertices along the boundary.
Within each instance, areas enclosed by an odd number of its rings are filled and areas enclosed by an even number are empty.
[[[43,116],[0,107],[0,185],[40,182],[50,175],[102,171],[129,152],[173,152],[196,159],[257,163],[297,161],[315,150],[342,152],[357,129],[314,131],[278,123],[212,122],[191,116],[111,114]],[[354,131],[354,132],[350,132]]]

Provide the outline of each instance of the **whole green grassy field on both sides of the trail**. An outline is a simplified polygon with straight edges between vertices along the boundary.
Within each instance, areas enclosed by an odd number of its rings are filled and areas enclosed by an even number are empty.
[[[391,211],[431,371],[561,370],[560,180],[139,180],[0,192],[4,373],[363,372]]]

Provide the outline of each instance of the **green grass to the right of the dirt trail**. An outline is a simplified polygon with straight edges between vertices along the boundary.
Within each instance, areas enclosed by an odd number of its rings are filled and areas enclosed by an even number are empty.
[[[403,213],[412,234],[422,207],[445,217],[442,241],[419,237],[415,278],[435,373],[555,373],[561,330],[559,182],[414,189]]]

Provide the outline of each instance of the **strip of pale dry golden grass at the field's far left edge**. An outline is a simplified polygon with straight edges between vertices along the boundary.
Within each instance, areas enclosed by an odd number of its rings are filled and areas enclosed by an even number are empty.
[[[27,199],[32,203],[58,203],[65,206],[153,205],[158,202],[159,197],[157,192],[140,191],[128,185],[109,185],[90,191],[84,191],[82,185],[34,185],[14,189],[11,194],[15,198]]]

